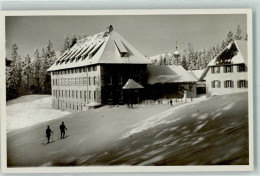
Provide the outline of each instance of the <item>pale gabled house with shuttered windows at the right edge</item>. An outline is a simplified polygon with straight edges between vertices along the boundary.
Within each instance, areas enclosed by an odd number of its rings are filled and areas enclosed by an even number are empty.
[[[200,78],[207,97],[248,91],[247,54],[247,41],[232,41],[209,62]]]

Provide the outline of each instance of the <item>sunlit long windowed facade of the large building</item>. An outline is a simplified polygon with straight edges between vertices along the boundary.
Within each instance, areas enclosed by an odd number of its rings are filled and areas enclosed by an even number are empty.
[[[55,109],[85,111],[89,109],[88,104],[101,103],[98,65],[55,71],[51,73],[51,80]]]

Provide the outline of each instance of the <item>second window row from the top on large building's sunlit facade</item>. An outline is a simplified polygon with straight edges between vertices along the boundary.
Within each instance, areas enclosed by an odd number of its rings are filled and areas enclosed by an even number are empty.
[[[60,78],[53,79],[54,86],[74,86],[74,85],[97,85],[97,77],[77,77],[77,78]]]

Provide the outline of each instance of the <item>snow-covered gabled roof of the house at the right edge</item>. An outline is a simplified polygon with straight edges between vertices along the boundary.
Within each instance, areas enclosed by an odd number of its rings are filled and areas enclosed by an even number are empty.
[[[225,56],[225,53],[230,51],[234,51],[234,55],[232,58],[227,58],[226,63],[221,61],[222,55]],[[223,59],[222,59],[223,60]],[[247,52],[247,41],[245,40],[236,40],[230,42],[228,46],[226,46],[214,59],[212,59],[204,70],[203,74],[199,78],[199,80],[203,80],[206,74],[209,71],[211,66],[220,66],[225,64],[248,64],[248,52]]]

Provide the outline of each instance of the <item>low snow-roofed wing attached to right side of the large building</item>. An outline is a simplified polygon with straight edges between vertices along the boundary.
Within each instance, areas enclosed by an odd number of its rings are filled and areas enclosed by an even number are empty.
[[[147,98],[183,98],[184,91],[187,98],[196,98],[197,79],[180,65],[147,66],[148,94]]]

